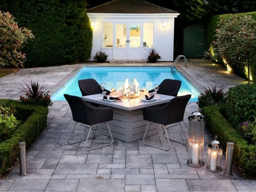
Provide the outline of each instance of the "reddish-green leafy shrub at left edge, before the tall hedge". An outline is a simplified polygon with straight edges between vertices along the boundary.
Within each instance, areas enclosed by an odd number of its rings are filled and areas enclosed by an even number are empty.
[[[32,38],[34,35],[30,30],[19,28],[9,12],[0,10],[0,67],[22,67],[26,56],[21,49]]]

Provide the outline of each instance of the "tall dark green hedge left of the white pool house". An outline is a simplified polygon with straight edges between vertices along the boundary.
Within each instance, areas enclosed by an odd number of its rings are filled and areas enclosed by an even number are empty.
[[[19,26],[35,36],[24,48],[26,65],[55,66],[90,58],[92,29],[85,0],[0,0]]]

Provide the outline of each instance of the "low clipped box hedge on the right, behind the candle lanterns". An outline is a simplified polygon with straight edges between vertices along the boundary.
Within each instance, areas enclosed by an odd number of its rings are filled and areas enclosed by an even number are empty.
[[[234,142],[233,161],[238,165],[242,174],[248,178],[256,178],[256,145],[248,142],[234,130],[226,118],[222,116],[218,106],[203,108],[207,127],[226,150],[226,142]]]

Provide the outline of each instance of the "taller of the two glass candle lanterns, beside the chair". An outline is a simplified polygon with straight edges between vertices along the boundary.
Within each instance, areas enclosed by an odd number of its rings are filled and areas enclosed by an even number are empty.
[[[190,167],[204,166],[204,117],[194,112],[188,117],[188,161]]]

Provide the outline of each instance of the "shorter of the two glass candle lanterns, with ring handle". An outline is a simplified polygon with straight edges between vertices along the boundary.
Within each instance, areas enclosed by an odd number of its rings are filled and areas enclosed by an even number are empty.
[[[217,136],[212,144],[208,145],[208,164],[206,170],[210,172],[221,172],[222,147],[217,141]]]

